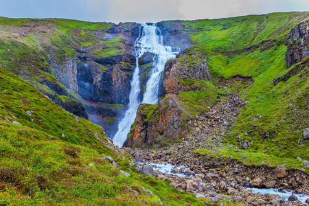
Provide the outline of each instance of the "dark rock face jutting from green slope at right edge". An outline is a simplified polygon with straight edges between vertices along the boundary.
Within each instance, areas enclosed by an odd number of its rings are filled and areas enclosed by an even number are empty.
[[[296,25],[288,38],[288,51],[286,52],[286,65],[288,67],[300,62],[309,54],[309,21]]]

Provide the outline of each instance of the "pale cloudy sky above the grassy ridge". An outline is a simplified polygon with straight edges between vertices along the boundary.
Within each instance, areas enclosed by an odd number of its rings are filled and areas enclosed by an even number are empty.
[[[309,0],[0,0],[0,16],[113,23],[309,11]]]

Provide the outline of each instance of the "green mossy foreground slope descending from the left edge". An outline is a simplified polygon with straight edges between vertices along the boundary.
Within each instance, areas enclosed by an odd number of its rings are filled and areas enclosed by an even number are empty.
[[[0,205],[203,205],[168,181],[135,173],[100,126],[2,67],[0,94]]]

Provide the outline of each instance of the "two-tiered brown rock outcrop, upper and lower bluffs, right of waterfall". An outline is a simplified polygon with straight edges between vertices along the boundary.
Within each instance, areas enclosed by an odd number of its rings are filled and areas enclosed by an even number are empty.
[[[181,91],[200,91],[201,86],[183,84],[181,80],[207,80],[207,61],[196,56],[181,56],[169,60],[163,73],[165,98],[157,106],[141,104],[131,127],[126,147],[161,148],[181,139],[192,118],[185,104],[179,100]],[[160,93],[160,92],[159,92]]]

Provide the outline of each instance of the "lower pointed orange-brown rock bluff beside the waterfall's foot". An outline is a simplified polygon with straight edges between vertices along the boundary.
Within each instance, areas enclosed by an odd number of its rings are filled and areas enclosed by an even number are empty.
[[[161,148],[181,138],[184,109],[176,95],[167,95],[158,105],[141,104],[124,146]]]

